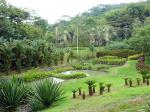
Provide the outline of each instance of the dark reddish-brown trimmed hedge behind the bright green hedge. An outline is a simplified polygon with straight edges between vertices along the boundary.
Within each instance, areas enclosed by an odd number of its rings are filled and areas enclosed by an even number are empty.
[[[133,50],[104,50],[104,51],[98,51],[96,53],[96,57],[102,57],[102,56],[118,56],[122,58],[128,58],[128,56],[138,54],[139,52],[133,51]]]

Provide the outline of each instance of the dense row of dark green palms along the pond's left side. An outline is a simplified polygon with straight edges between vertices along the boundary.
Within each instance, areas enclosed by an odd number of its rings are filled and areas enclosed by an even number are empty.
[[[3,43],[4,42],[4,43]],[[0,71],[9,73],[10,70],[37,67],[40,65],[57,65],[64,62],[65,51],[53,47],[45,40],[11,40],[0,43]]]

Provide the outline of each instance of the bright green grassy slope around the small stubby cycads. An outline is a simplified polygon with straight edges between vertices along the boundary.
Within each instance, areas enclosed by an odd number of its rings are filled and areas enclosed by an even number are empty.
[[[150,92],[147,86],[124,87],[124,77],[140,77],[135,69],[135,61],[129,61],[122,67],[110,69],[108,75],[90,76],[84,79],[70,80],[65,82],[66,99],[60,102],[58,106],[44,110],[44,112],[133,112],[134,109],[140,108],[143,103],[140,96]],[[87,97],[82,100],[81,97],[72,99],[72,89],[82,87],[87,93],[87,85],[84,83],[88,79],[97,81],[97,95]],[[103,96],[98,95],[98,82],[112,83],[112,92],[105,93]],[[136,82],[134,82],[136,83]],[[133,98],[133,101],[131,100]],[[138,100],[137,100],[138,99]],[[142,99],[142,98],[141,98]],[[131,102],[131,103],[130,103]]]

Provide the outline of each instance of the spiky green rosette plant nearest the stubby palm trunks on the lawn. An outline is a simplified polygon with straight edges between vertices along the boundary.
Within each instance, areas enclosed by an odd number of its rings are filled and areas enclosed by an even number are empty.
[[[33,90],[33,101],[40,102],[43,105],[43,108],[47,108],[64,98],[61,83],[57,83],[54,80],[41,80],[34,85]]]

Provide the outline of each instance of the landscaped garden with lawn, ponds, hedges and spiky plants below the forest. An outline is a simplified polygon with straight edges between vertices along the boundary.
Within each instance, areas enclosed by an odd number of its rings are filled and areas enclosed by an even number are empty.
[[[144,105],[149,93],[149,67],[144,64],[144,55],[131,50],[116,50],[112,54],[95,49],[93,54],[86,47],[79,50],[80,55],[76,50],[63,50],[63,60],[57,57],[58,61],[53,60],[50,67],[26,70],[21,67],[21,73],[17,69],[1,73],[1,109],[44,112],[141,109],[139,105]]]

